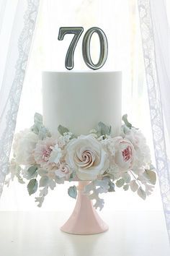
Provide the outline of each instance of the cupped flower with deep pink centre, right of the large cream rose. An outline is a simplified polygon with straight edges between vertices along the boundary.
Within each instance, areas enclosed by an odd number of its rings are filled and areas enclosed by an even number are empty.
[[[135,149],[133,144],[122,137],[114,137],[107,140],[107,148],[112,159],[112,166],[120,172],[128,171],[133,167]]]

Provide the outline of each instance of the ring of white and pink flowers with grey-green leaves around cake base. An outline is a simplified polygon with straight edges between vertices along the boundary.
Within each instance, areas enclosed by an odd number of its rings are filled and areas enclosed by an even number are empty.
[[[112,137],[112,129],[99,122],[89,135],[76,137],[66,127],[58,127],[54,137],[42,124],[42,116],[35,114],[34,125],[14,136],[14,156],[9,164],[10,180],[27,184],[30,195],[41,207],[48,189],[66,181],[89,181],[84,194],[95,200],[100,210],[104,200],[99,194],[115,192],[116,187],[133,192],[146,199],[156,184],[156,173],[146,139],[139,129],[122,116],[120,136]],[[68,188],[68,195],[76,198],[76,186]]]

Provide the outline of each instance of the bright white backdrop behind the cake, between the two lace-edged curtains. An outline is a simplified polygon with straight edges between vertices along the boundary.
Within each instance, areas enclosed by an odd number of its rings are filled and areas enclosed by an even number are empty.
[[[123,6],[123,8],[122,8]],[[30,61],[24,80],[19,104],[15,132],[32,125],[35,111],[42,113],[41,73],[42,70],[65,71],[65,56],[71,36],[58,41],[61,26],[101,27],[109,42],[109,56],[103,70],[122,70],[122,114],[127,113],[135,127],[140,127],[152,149],[152,136],[146,81],[143,65],[143,52],[140,38],[138,6],[136,1],[128,0],[81,0],[81,1],[43,1],[37,20],[37,29],[30,53]],[[83,36],[82,36],[83,38]],[[81,55],[81,43],[76,46],[73,70],[89,70]],[[91,55],[98,58],[99,40],[93,35]],[[154,161],[154,158],[153,158]],[[42,208],[37,208],[34,195],[27,193],[27,187],[12,182],[4,187],[1,197],[1,210],[69,210],[75,204],[67,195],[69,184],[58,185],[55,191],[45,198]],[[62,197],[61,197],[62,195]],[[132,192],[118,190],[115,195],[104,195],[105,207],[100,214],[109,210],[162,210],[158,184],[148,200],[139,200]],[[58,203],[56,203],[58,202]],[[114,202],[114,203],[113,203]],[[121,202],[121,203],[120,203]],[[70,206],[69,206],[70,205]],[[130,205],[130,207],[129,207]]]

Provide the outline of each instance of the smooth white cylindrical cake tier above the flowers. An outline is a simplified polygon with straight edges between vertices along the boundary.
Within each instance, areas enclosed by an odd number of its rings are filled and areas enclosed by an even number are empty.
[[[59,124],[87,135],[99,121],[119,135],[121,98],[121,72],[42,72],[43,124],[53,135]]]

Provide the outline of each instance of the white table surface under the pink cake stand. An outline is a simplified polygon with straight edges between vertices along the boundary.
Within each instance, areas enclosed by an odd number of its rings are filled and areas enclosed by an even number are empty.
[[[101,214],[99,213],[101,216]],[[68,212],[0,212],[2,256],[169,256],[161,211],[115,211],[102,216],[103,234],[71,235],[60,230]]]

